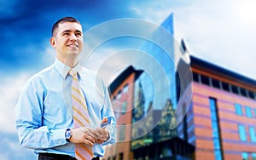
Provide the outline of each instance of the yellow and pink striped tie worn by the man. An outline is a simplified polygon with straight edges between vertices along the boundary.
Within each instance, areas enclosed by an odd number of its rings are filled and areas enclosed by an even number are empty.
[[[89,113],[85,103],[84,94],[79,84],[77,71],[70,69],[72,79],[72,105],[73,105],[73,127],[90,127]],[[92,148],[84,144],[75,145],[75,157],[82,160],[90,160],[93,157]]]

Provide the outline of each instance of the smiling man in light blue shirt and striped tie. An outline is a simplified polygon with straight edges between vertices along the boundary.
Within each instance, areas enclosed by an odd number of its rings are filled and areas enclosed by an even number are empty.
[[[84,46],[81,24],[73,17],[58,20],[49,43],[55,49],[55,63],[29,79],[15,108],[20,145],[34,149],[39,160],[102,157],[102,146],[115,141],[115,118],[108,89],[103,83],[96,86],[96,74],[79,64]],[[80,88],[72,88],[73,83]],[[87,126],[77,124],[78,113],[89,115],[84,116]],[[108,121],[108,127],[99,127]],[[90,158],[79,152],[79,146]]]

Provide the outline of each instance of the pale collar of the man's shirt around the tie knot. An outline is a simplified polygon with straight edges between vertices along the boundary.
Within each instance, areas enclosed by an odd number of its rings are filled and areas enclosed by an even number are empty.
[[[66,79],[67,75],[68,75],[68,71],[71,69],[71,67],[65,65],[64,63],[62,63],[60,60],[55,59],[55,63],[54,63],[55,68],[57,69],[57,71],[61,74],[61,77],[63,77],[63,79]],[[76,71],[78,71],[78,75],[80,78],[80,73],[82,71],[82,66],[80,64],[78,64],[77,66],[73,67]]]

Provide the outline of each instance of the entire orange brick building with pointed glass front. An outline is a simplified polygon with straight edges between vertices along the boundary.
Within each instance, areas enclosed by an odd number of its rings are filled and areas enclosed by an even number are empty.
[[[118,142],[102,159],[256,159],[256,81],[188,55],[173,14],[161,26],[109,86]]]

